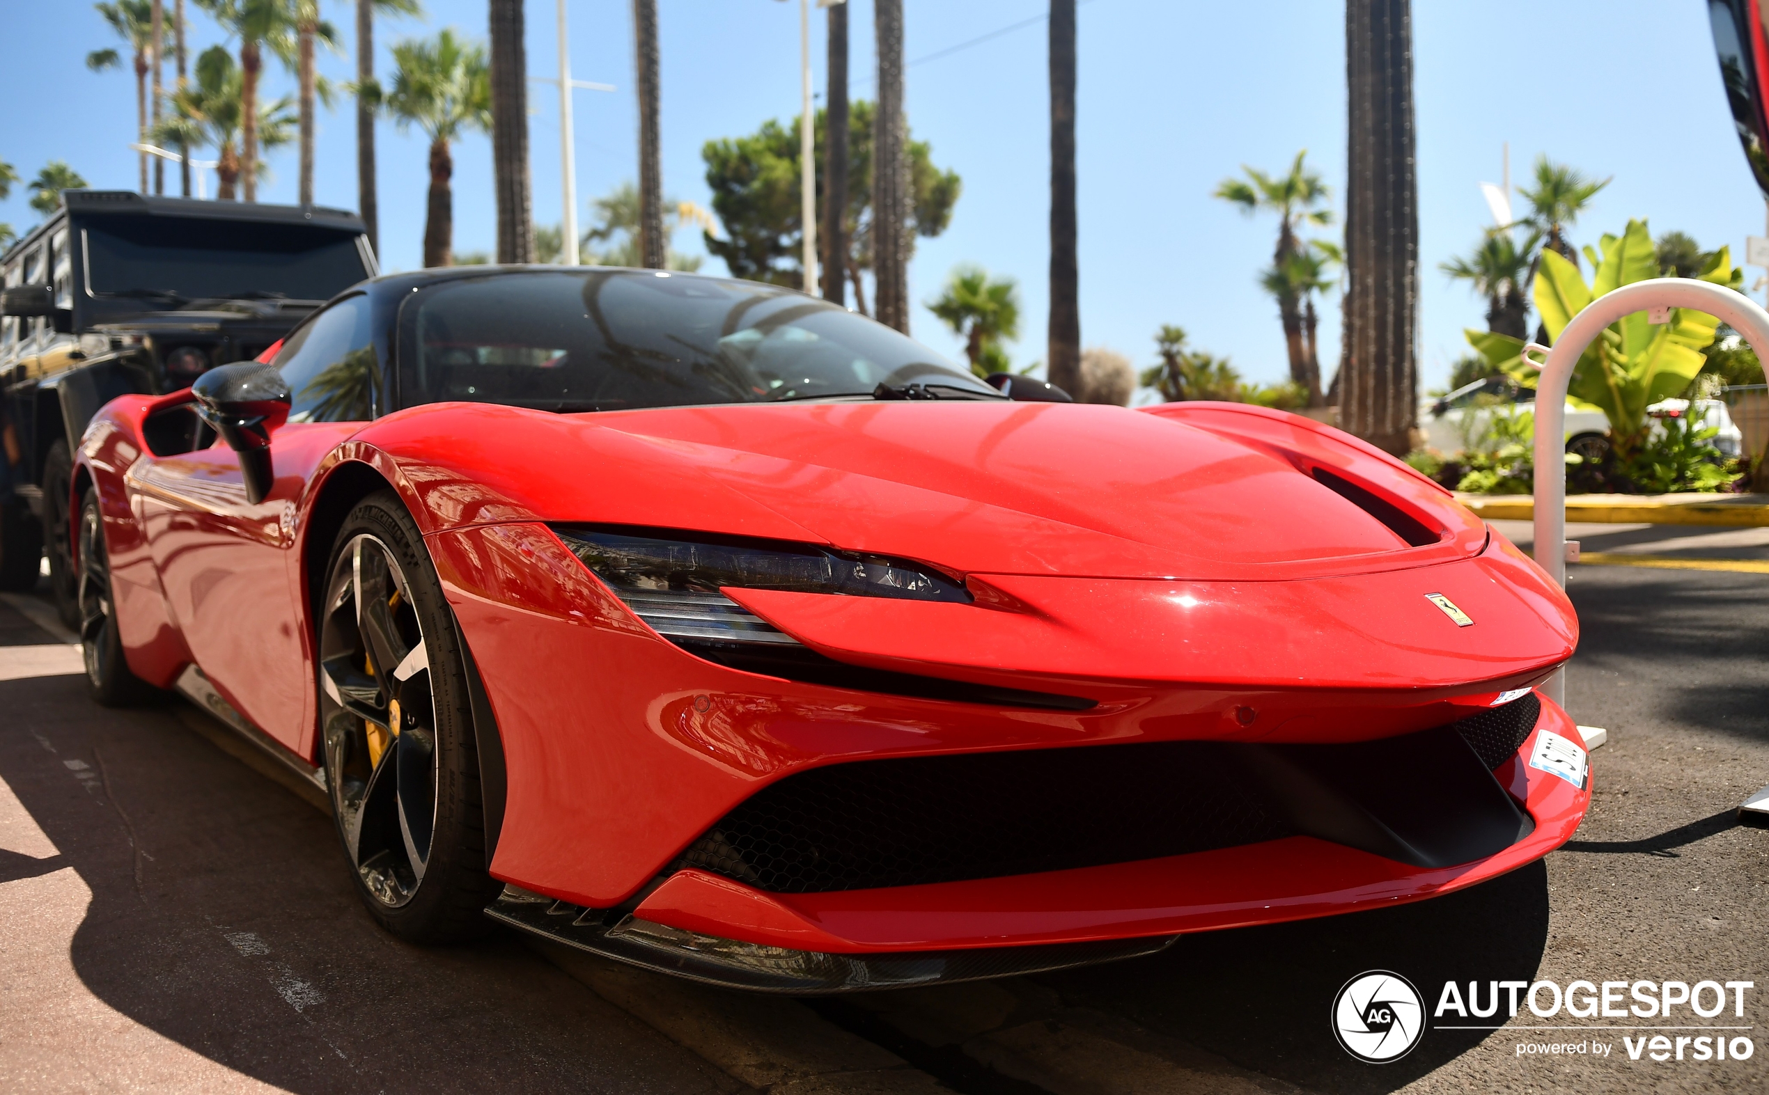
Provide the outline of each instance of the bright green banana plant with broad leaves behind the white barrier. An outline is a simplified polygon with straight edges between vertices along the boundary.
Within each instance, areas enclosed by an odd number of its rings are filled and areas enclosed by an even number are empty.
[[[1553,343],[1587,304],[1603,294],[1635,281],[1659,276],[1658,253],[1645,221],[1627,221],[1622,235],[1604,235],[1599,249],[1585,248],[1596,269],[1590,285],[1578,267],[1560,255],[1543,249],[1535,272],[1535,310]],[[1741,288],[1744,274],[1732,265],[1728,248],[1707,262],[1702,281]],[[1645,311],[1635,311],[1610,324],[1585,347],[1567,387],[1569,402],[1603,410],[1610,419],[1610,444],[1622,460],[1647,439],[1647,407],[1681,394],[1707,357],[1719,320],[1693,308],[1672,308],[1670,320],[1654,324]],[[1468,331],[1468,343],[1495,368],[1525,387],[1535,387],[1537,373],[1521,359],[1523,341],[1491,331]]]

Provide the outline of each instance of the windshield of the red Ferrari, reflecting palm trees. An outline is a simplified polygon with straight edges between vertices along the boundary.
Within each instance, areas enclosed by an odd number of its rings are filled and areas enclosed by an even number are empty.
[[[525,271],[444,281],[402,311],[400,403],[621,410],[869,396],[1001,398],[927,347],[759,281]]]

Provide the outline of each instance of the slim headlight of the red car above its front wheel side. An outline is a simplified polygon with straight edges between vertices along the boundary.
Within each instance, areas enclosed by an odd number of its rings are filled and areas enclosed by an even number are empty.
[[[720,593],[724,587],[971,601],[946,575],[879,555],[734,538],[662,540],[584,525],[554,532],[639,619],[674,640],[798,646]]]

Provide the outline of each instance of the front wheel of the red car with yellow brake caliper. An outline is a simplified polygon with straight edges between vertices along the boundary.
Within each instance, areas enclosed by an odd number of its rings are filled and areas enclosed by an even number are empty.
[[[499,884],[472,704],[442,587],[393,492],[350,513],[320,609],[325,784],[357,890],[412,943],[479,936]]]

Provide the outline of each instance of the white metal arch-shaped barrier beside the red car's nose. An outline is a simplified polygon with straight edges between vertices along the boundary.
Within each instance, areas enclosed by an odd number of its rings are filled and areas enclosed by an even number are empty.
[[[1597,334],[1635,311],[1647,311],[1654,322],[1668,322],[1672,308],[1695,308],[1718,315],[1744,336],[1758,359],[1769,361],[1769,311],[1764,311],[1744,294],[1696,281],[1693,278],[1652,278],[1613,288],[1587,304],[1550,347],[1530,343],[1523,359],[1541,368],[1535,386],[1535,563],[1566,586],[1566,389],[1573,382],[1573,366]],[[1537,363],[1532,352],[1546,352]],[[1566,706],[1566,670],[1558,670],[1543,685],[1543,693]],[[1769,787],[1751,796],[1751,803],[1769,793]]]

